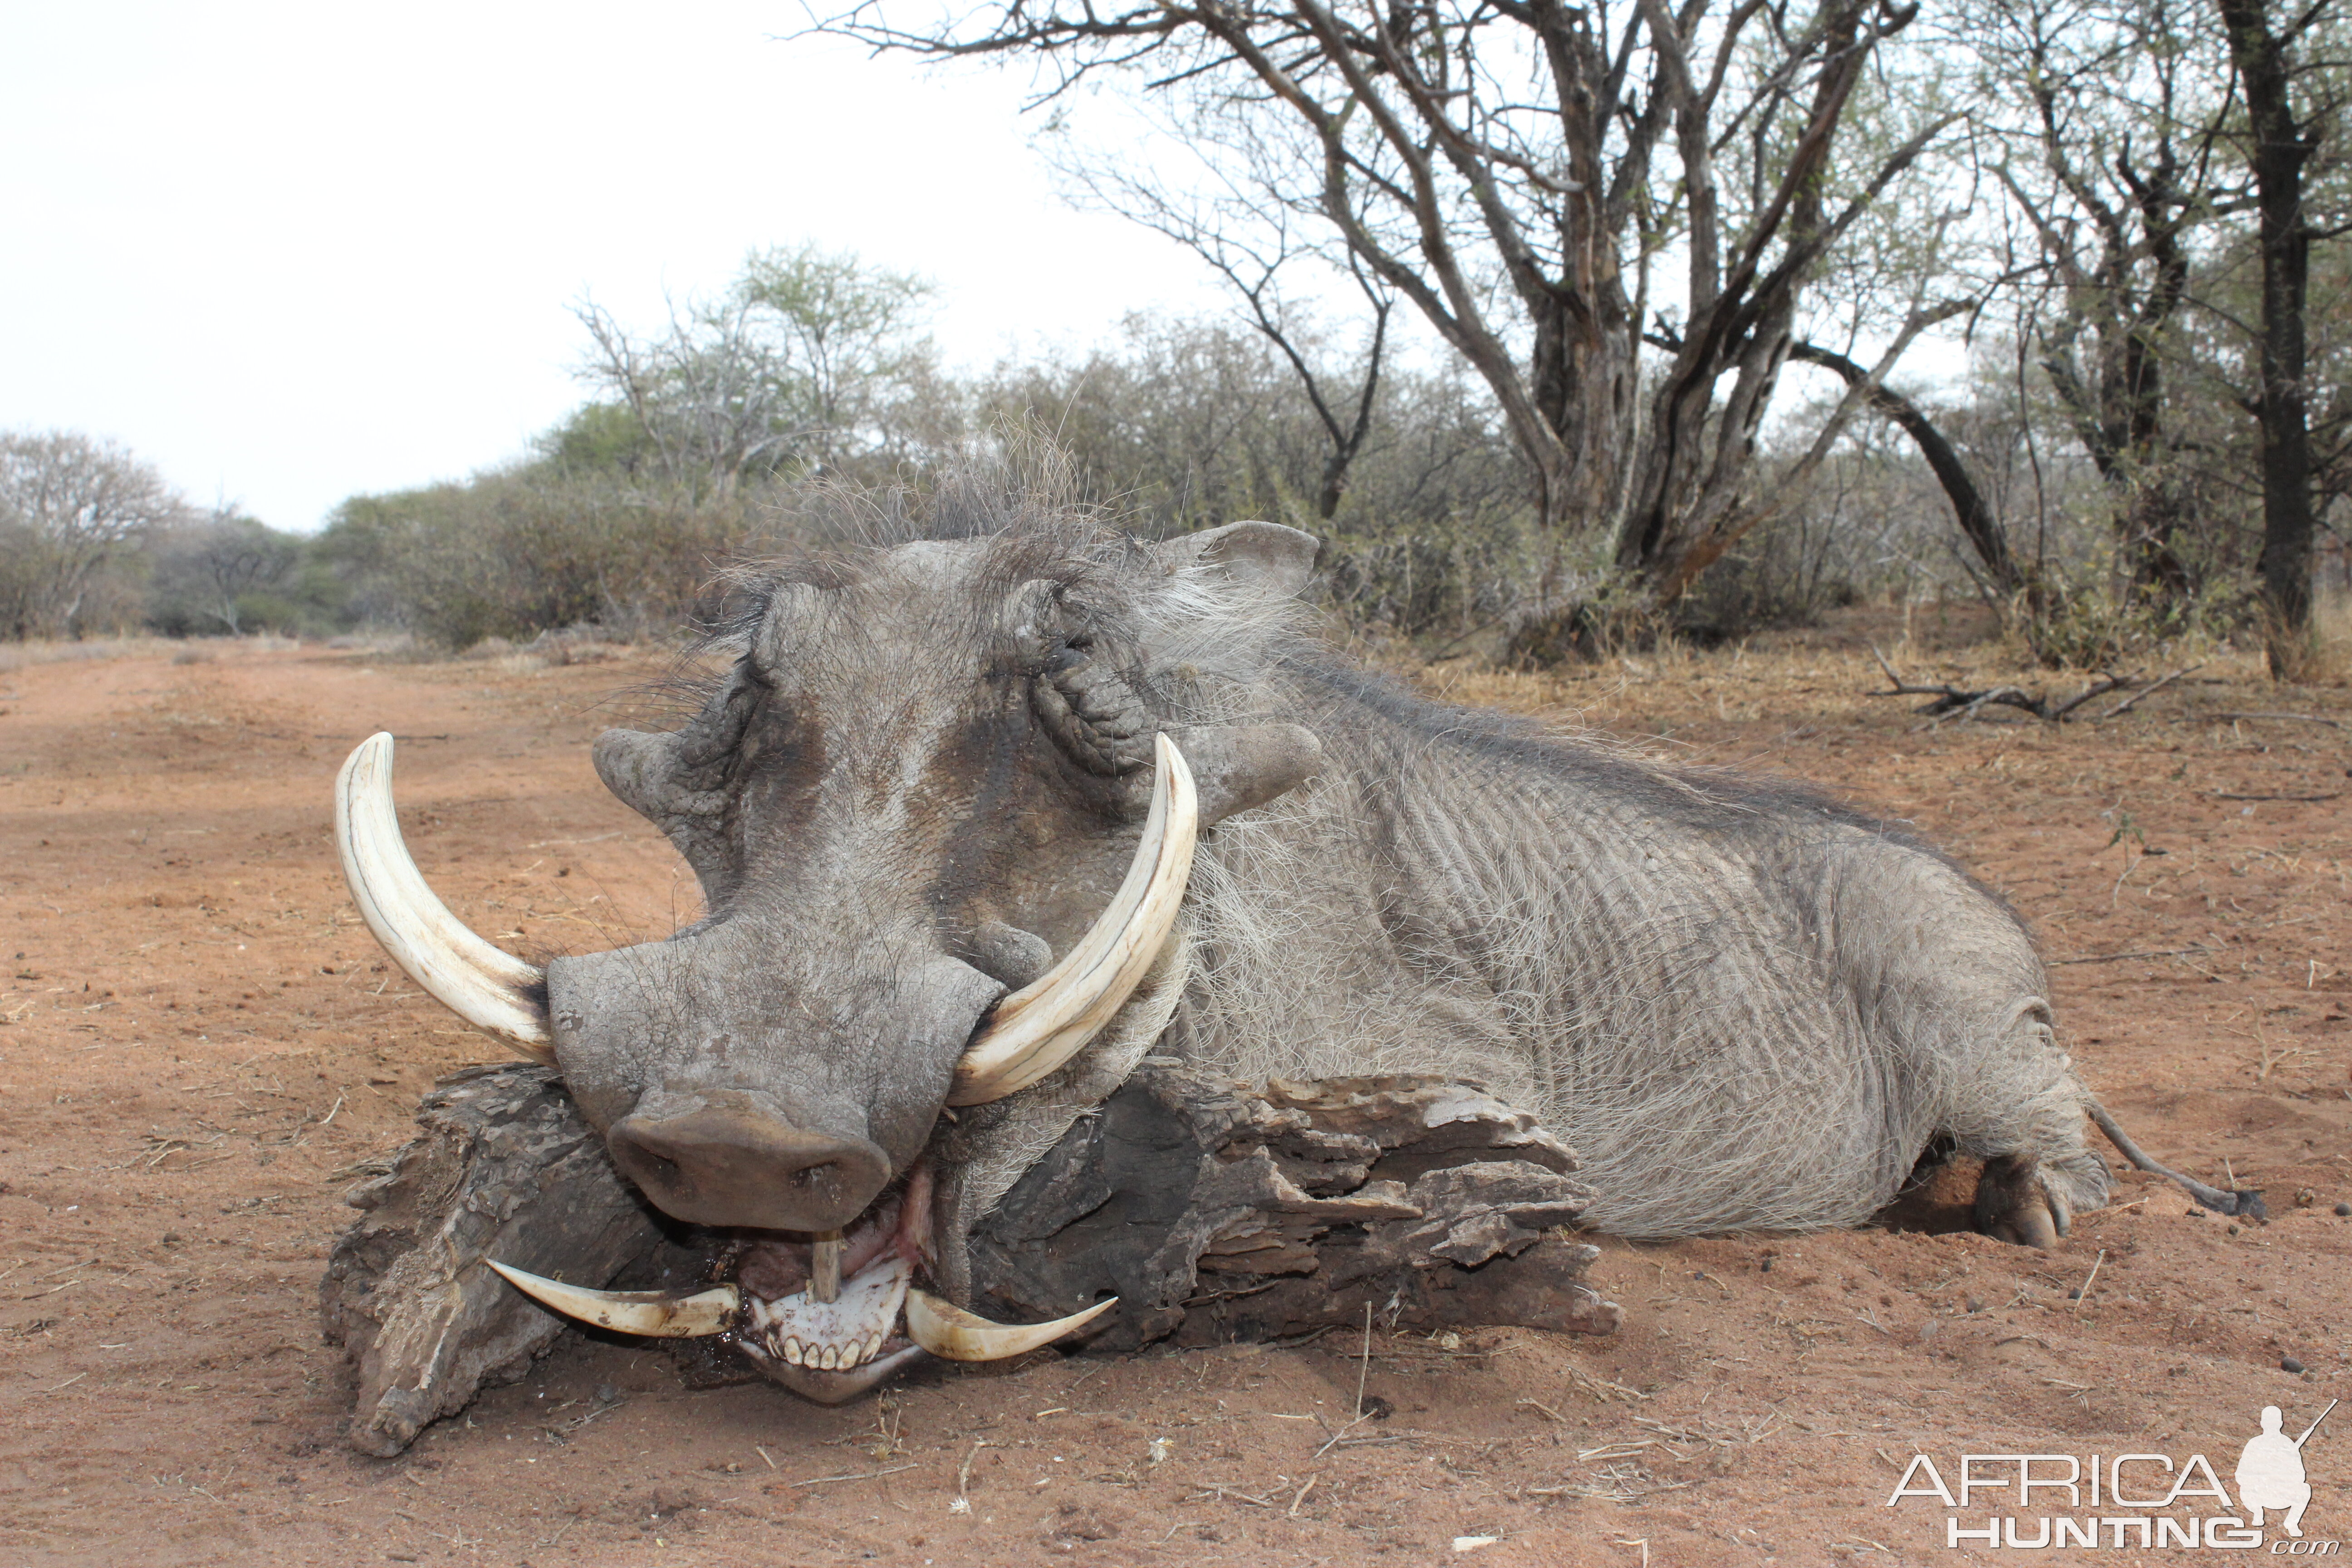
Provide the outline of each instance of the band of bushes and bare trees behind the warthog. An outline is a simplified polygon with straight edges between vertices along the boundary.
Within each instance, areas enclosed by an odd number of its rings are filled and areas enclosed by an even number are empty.
[[[1197,186],[1061,162],[1232,315],[950,371],[924,280],[757,252],[659,327],[583,303],[588,395],[529,454],[353,496],[310,538],[12,435],[0,635],[637,637],[790,541],[811,484],[920,489],[1044,440],[1143,529],[1319,534],[1338,618],[1425,654],[1971,597],[2046,665],[2187,635],[2328,665],[2352,592],[2328,0],[894,16],[823,26],[1091,80],[1171,132]]]

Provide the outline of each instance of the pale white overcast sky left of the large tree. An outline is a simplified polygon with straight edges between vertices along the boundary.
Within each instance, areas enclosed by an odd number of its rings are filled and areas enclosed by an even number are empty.
[[[1070,212],[1025,78],[786,40],[795,0],[0,9],[0,428],[313,529],[517,454],[626,324],[814,240],[941,284],[953,362],[1223,301]]]

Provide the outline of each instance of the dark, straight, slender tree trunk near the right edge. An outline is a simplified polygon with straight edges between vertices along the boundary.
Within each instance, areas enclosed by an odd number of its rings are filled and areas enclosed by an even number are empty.
[[[2265,0],[2220,0],[2230,59],[2253,122],[2253,188],[2263,249],[2263,353],[2256,418],[2263,428],[2263,609],[2270,672],[2288,679],[2305,665],[2312,623],[2312,433],[2305,388],[2303,306],[2312,230],[2303,221],[2303,165],[2314,143],[2296,122],[2286,40],[2270,28]]]

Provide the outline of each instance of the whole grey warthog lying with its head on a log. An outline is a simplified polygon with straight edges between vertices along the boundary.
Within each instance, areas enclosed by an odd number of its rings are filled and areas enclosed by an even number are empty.
[[[1632,1237],[1856,1225],[1943,1147],[1990,1234],[2103,1201],[2025,929],[1910,835],[1409,696],[1301,630],[1296,529],[1145,543],[974,477],[858,517],[750,581],[682,729],[595,743],[701,879],[668,940],[499,952],[400,846],[390,738],[346,764],[386,947],[659,1208],[762,1237],[701,1295],[513,1274],[541,1300],[818,1396],[1018,1354],[1091,1314],[964,1314],[962,1237],[1148,1051],[1482,1081]]]

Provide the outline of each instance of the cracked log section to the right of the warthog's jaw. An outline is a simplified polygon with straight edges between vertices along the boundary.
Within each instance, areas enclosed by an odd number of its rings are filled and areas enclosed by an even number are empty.
[[[1089,1345],[1275,1340],[1362,1324],[1609,1333],[1590,1192],[1526,1112],[1444,1079],[1242,1084],[1145,1058],[971,1234],[983,1316],[1122,1300]]]

